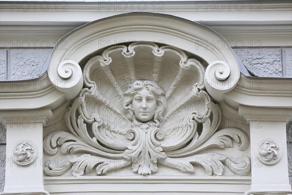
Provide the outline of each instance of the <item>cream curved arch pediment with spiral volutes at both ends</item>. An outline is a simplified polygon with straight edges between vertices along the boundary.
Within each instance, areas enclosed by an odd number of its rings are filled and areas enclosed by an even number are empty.
[[[153,13],[131,13],[90,22],[72,31],[56,44],[48,75],[55,87],[67,98],[75,97],[82,88],[79,63],[92,53],[110,45],[146,41],[174,46],[203,59],[209,94],[221,101],[232,90],[240,76],[237,59],[218,33],[199,23]],[[68,50],[59,45],[66,43]]]

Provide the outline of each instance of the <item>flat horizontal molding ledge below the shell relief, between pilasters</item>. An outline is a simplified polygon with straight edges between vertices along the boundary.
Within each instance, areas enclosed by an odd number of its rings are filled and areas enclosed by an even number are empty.
[[[94,195],[243,195],[250,188],[250,184],[251,177],[249,176],[44,177],[45,189],[51,195],[61,193],[73,194],[74,192],[79,192],[80,189],[82,189],[82,195],[91,195],[92,192],[94,192]],[[86,188],[83,188],[84,185]],[[110,188],[110,192],[108,192],[109,186],[116,185],[119,188]],[[208,192],[206,192],[206,189],[208,189]]]

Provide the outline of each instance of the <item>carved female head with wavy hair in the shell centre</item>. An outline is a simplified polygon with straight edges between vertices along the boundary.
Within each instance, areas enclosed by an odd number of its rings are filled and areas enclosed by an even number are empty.
[[[124,93],[124,111],[129,119],[163,122],[166,107],[164,89],[151,80],[136,80]]]

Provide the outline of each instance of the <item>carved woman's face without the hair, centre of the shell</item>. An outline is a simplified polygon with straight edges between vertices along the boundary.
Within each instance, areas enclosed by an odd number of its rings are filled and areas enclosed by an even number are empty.
[[[156,109],[156,98],[146,89],[140,90],[132,102],[134,115],[143,122],[153,119]]]

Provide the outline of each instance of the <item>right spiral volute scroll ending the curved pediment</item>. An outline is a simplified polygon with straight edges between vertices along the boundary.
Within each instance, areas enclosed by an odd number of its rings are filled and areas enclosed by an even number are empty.
[[[205,71],[206,88],[217,101],[221,101],[222,94],[232,90],[238,79],[233,78],[231,69],[225,61],[217,60],[208,65]]]

